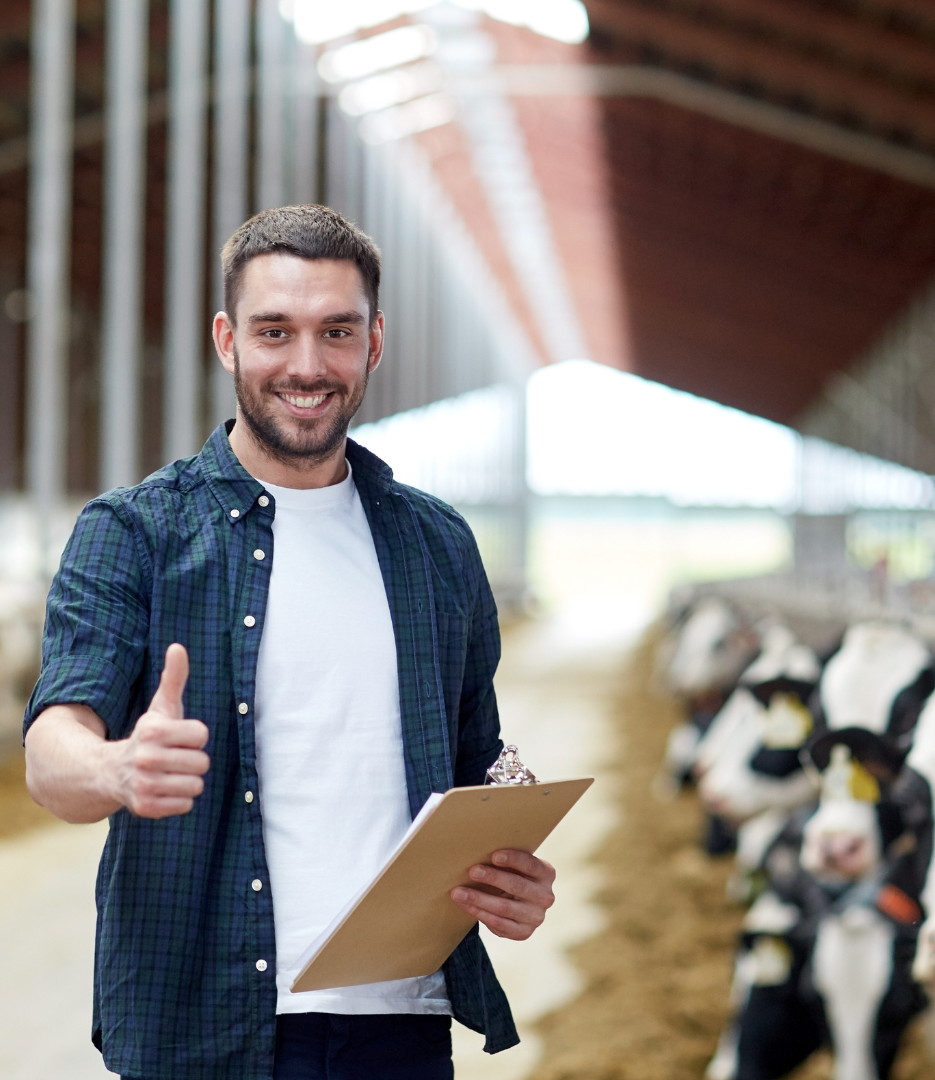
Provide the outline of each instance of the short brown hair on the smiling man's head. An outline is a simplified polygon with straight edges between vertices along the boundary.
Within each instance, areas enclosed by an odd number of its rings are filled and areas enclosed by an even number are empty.
[[[258,255],[282,252],[300,259],[348,259],[356,264],[370,305],[370,321],[380,300],[380,248],[353,221],[330,206],[279,206],[256,214],[223,245],[225,310],[234,323],[244,267]]]

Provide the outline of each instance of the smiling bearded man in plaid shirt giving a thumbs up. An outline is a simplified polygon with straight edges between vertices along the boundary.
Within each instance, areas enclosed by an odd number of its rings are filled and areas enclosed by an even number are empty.
[[[383,349],[374,243],[293,206],[222,264],[236,420],[84,509],[26,714],[33,798],[110,818],[93,1039],[140,1080],[450,1078],[451,1016],[517,1041],[476,927],[434,975],[289,985],[428,796],[498,756],[496,608],[458,514],[347,438]],[[502,894],[452,902],[525,939],[554,872],[493,863],[471,876]]]

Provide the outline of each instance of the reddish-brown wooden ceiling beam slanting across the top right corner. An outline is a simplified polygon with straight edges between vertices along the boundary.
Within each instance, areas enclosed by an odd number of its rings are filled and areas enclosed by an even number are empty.
[[[594,24],[634,48],[703,66],[715,78],[761,86],[785,102],[803,98],[824,116],[854,116],[878,133],[905,132],[935,147],[935,97],[841,70],[814,57],[633,0],[588,0]]]

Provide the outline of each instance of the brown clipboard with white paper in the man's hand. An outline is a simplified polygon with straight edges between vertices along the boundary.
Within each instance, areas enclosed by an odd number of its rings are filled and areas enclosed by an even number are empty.
[[[484,890],[467,870],[501,848],[536,851],[593,783],[491,784],[435,796],[367,889],[312,943],[292,991],[437,971],[476,922],[450,891]]]

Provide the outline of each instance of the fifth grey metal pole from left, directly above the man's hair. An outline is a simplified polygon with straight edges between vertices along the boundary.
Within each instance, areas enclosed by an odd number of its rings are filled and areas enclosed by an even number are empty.
[[[282,206],[285,201],[284,87],[285,30],[279,0],[257,3],[257,156],[256,208]]]

